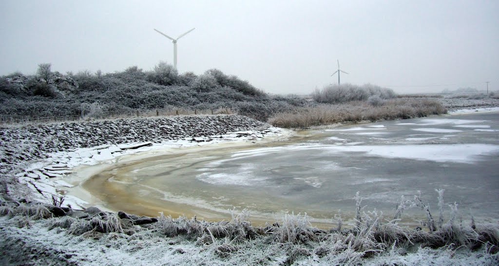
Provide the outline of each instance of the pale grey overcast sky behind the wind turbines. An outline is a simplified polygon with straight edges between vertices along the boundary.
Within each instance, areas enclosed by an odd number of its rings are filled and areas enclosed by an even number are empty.
[[[498,0],[164,0],[0,2],[0,74],[218,68],[271,93],[341,82],[397,92],[499,89]],[[439,86],[421,86],[439,85]]]

